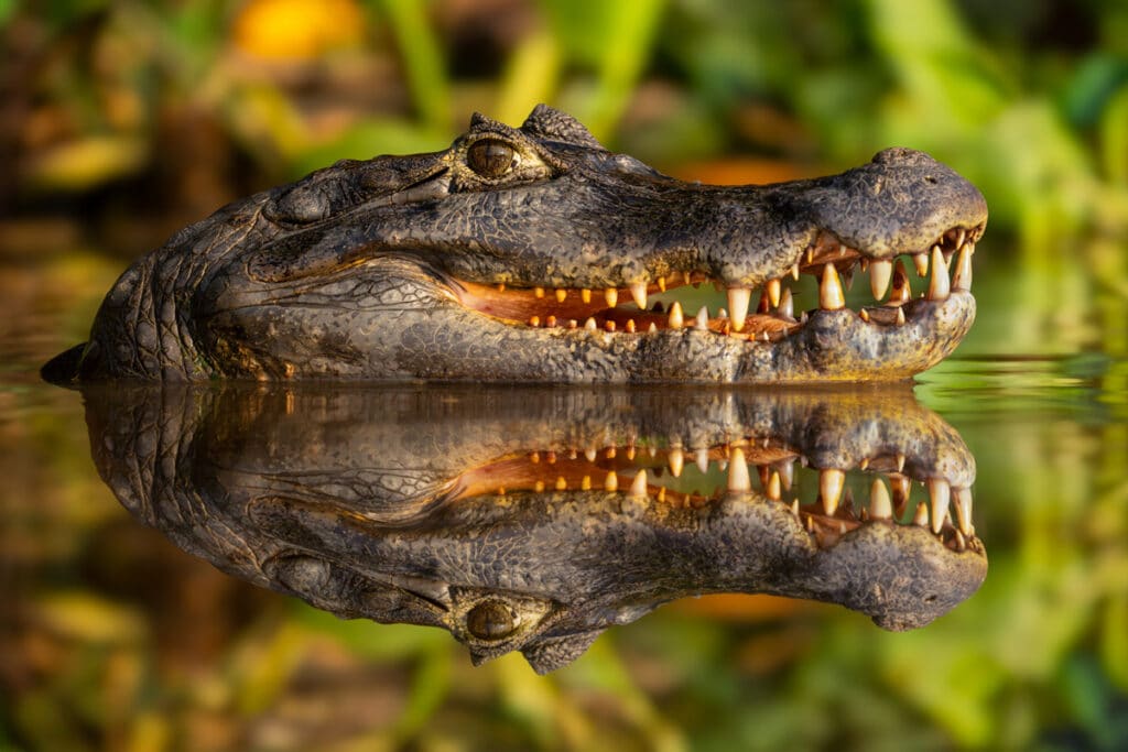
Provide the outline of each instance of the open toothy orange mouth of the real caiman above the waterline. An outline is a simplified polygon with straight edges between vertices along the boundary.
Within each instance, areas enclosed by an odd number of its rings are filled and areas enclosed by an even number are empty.
[[[513,326],[585,329],[618,333],[653,333],[691,327],[715,334],[759,342],[778,342],[801,330],[809,312],[796,317],[790,281],[809,274],[819,282],[819,310],[846,308],[856,268],[870,274],[870,290],[878,304],[862,307],[858,317],[871,326],[896,327],[924,313],[916,303],[909,275],[900,256],[911,259],[919,277],[928,277],[917,300],[941,302],[952,292],[970,292],[971,257],[984,225],[954,227],[942,233],[928,249],[904,251],[893,258],[873,258],[852,248],[836,235],[821,231],[794,264],[759,289],[728,286],[703,271],[669,271],[652,282],[606,289],[521,287],[504,283],[481,284],[457,280],[455,297],[465,308]],[[954,264],[953,264],[954,258]],[[952,268],[954,266],[954,268]],[[931,273],[931,274],[929,274]],[[711,316],[705,306],[688,313],[678,300],[650,303],[651,297],[678,287],[713,284],[728,294],[728,308]],[[751,308],[754,292],[758,304]],[[632,304],[633,303],[633,304]],[[813,310],[811,311],[813,312]]]

